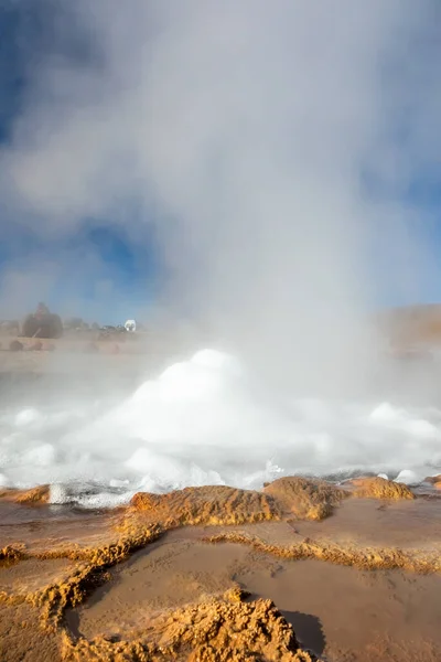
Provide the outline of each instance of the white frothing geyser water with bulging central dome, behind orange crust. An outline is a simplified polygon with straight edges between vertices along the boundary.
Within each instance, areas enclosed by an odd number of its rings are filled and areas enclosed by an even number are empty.
[[[369,471],[418,482],[440,472],[440,438],[441,410],[275,402],[234,357],[203,350],[109,410],[94,402],[3,410],[0,487],[50,483],[54,503],[94,508],[125,503],[139,490],[260,488],[293,473]]]

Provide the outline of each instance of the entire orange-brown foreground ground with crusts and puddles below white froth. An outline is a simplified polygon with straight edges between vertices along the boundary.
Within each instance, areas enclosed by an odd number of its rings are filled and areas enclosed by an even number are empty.
[[[283,478],[85,513],[4,490],[0,660],[440,660],[438,494]]]

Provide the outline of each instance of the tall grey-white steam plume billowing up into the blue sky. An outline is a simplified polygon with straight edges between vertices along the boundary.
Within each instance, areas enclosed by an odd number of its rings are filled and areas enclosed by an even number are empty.
[[[162,305],[278,380],[335,382],[366,346],[359,323],[381,288],[420,292],[433,273],[405,201],[440,147],[433,12],[430,0],[58,2],[56,43],[87,55],[50,43],[30,61],[4,195],[43,237],[95,215],[133,241],[136,200],[160,237]]]

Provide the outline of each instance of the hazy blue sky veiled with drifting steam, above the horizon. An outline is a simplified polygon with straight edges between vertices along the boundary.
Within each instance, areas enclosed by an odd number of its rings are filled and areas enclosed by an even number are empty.
[[[305,281],[327,286],[309,266],[323,254],[321,234],[333,246],[327,268],[344,264],[351,277],[352,245],[340,249],[333,237],[344,231],[342,210],[353,207],[369,224],[373,305],[440,300],[439,3],[422,0],[418,12],[407,0],[359,4],[359,19],[335,23],[335,43],[329,17],[318,21],[303,8],[299,19],[295,3],[283,0],[272,12],[255,6],[256,34],[248,34],[249,14],[229,2],[225,10],[208,2],[211,13],[196,1],[174,4],[174,13],[150,4],[133,0],[126,15],[114,0],[0,0],[0,307],[13,297],[22,308],[43,298],[63,312],[119,321],[148,314],[175,269],[176,300],[197,290],[189,306],[218,297],[228,312],[240,310],[248,295],[235,287],[241,269],[272,271],[287,241],[299,247],[305,237],[300,223],[289,232],[280,225],[280,244],[265,253],[271,232],[258,216],[263,206],[277,216],[271,200],[288,200],[270,179],[282,180],[284,168],[291,181],[305,181],[287,217],[299,217],[304,191],[312,201],[304,243],[311,259],[298,267]],[[297,36],[290,19],[300,24]],[[232,66],[236,47],[244,50]],[[299,60],[287,68],[292,95],[284,74],[279,79],[290,57]],[[334,75],[336,88],[323,103]],[[246,196],[244,163],[254,181]],[[335,196],[326,191],[334,175]],[[346,200],[348,190],[361,191],[361,200]],[[268,200],[260,200],[265,191]],[[324,213],[316,209],[322,191],[335,204],[329,229],[326,220],[315,221]],[[237,236],[252,233],[263,244],[248,249],[245,242],[239,250]],[[338,271],[335,291],[347,273]],[[281,274],[290,277],[290,267]],[[262,286],[257,299],[271,298]]]

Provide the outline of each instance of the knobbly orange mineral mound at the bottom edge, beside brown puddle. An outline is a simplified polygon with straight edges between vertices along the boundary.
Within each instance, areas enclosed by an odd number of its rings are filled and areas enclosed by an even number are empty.
[[[165,662],[312,662],[316,658],[301,650],[291,627],[271,600],[244,602],[240,591],[187,605],[172,612],[146,618],[142,633],[126,641],[97,638],[74,642],[65,634],[63,659],[149,660]]]

